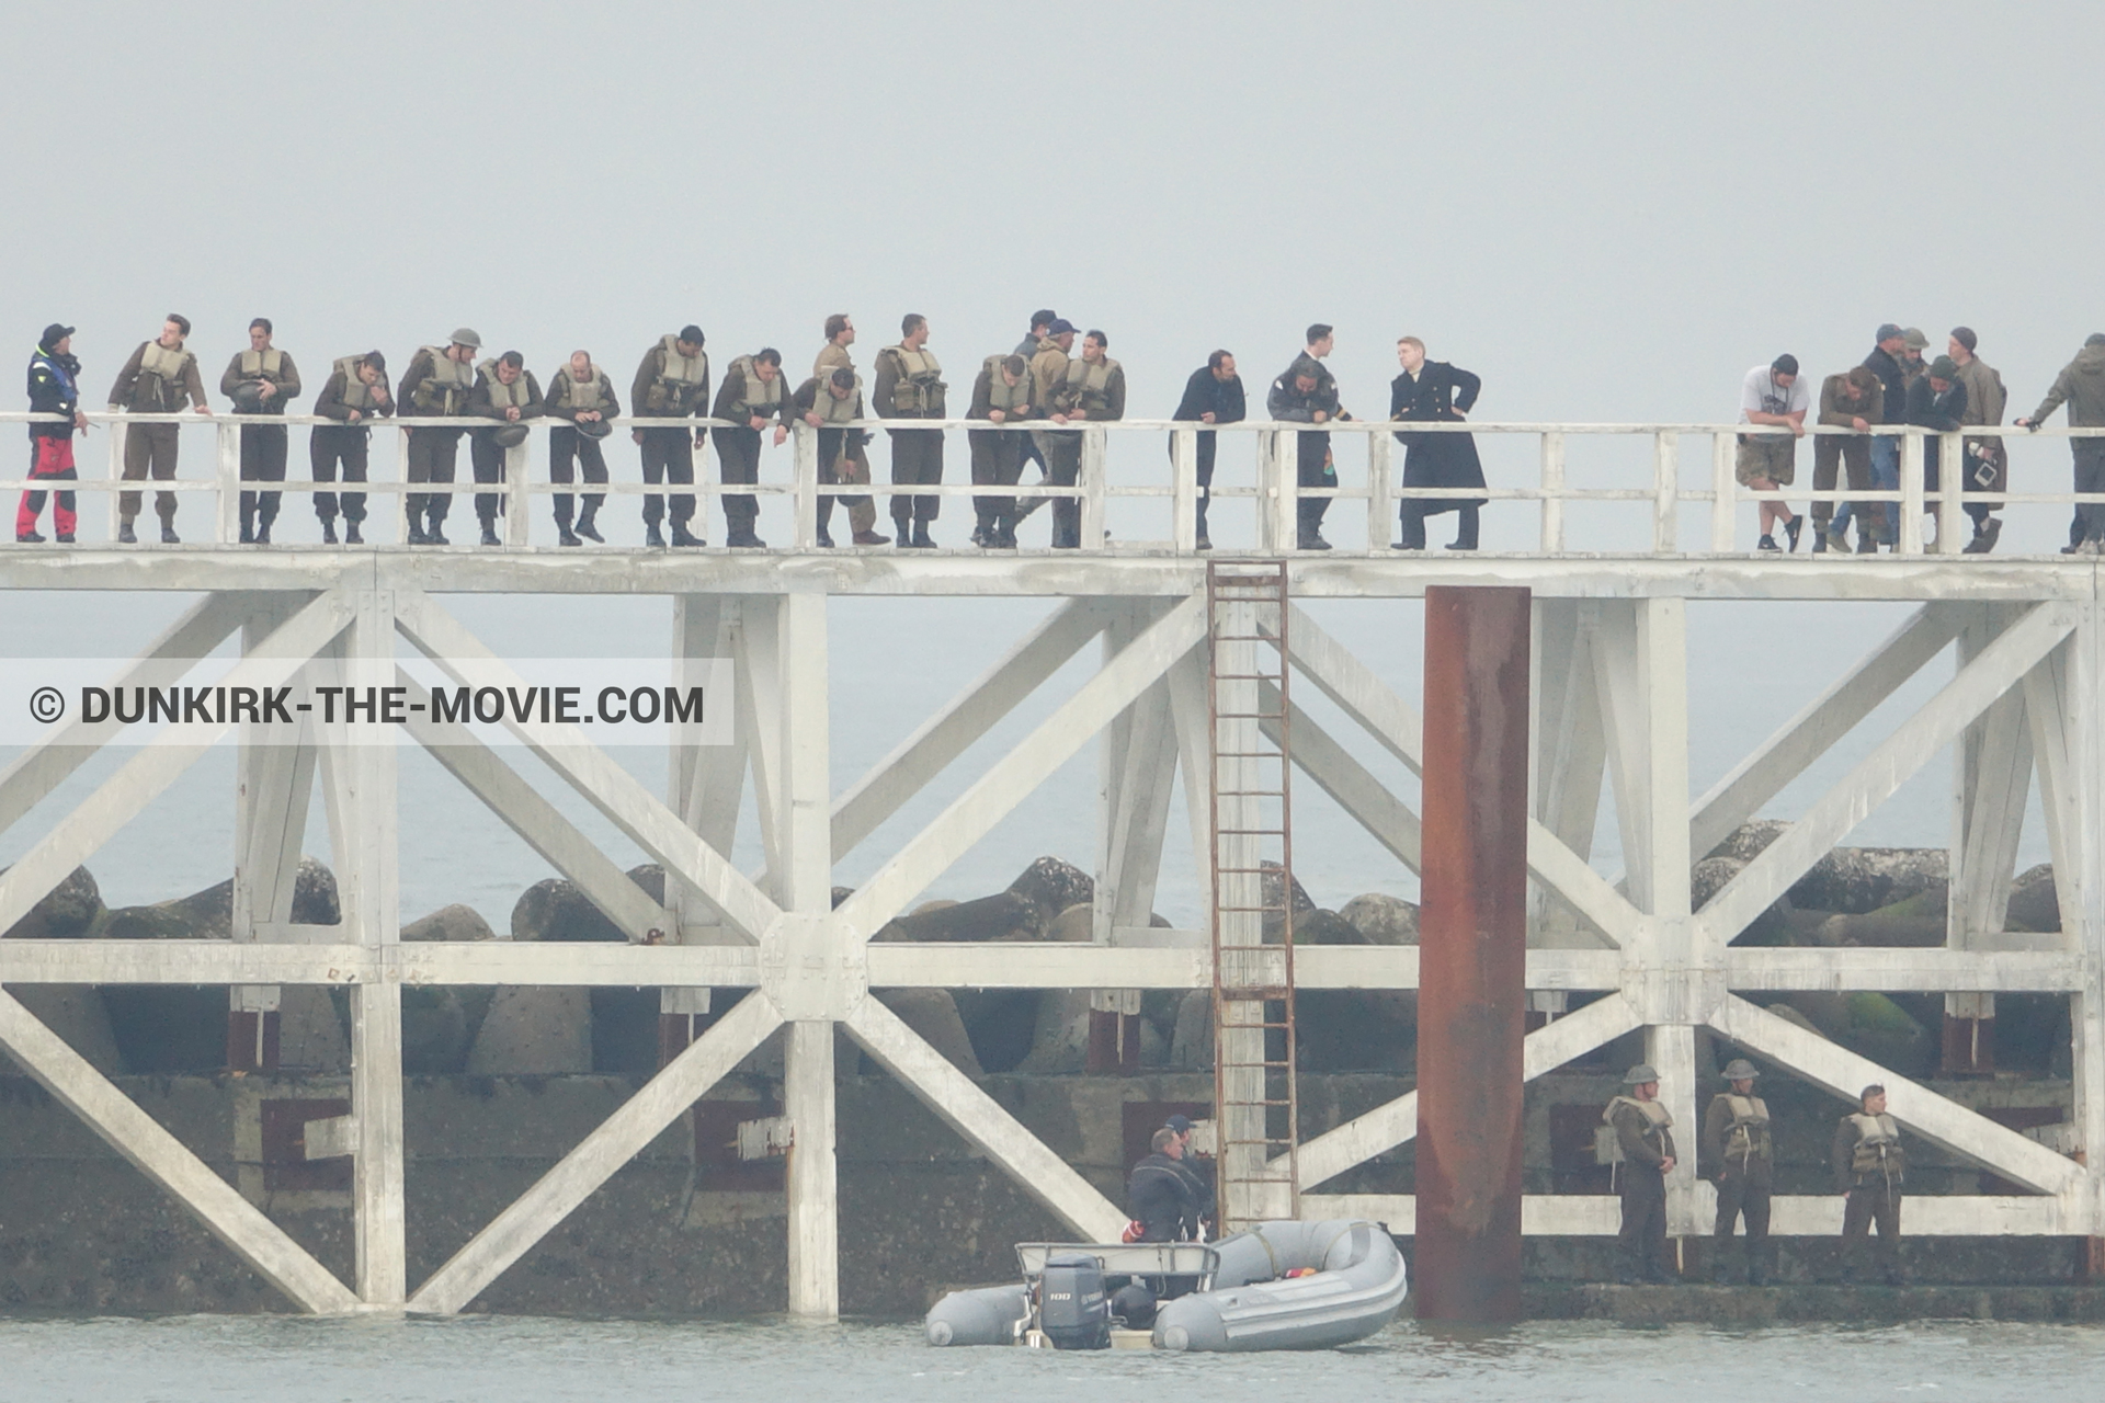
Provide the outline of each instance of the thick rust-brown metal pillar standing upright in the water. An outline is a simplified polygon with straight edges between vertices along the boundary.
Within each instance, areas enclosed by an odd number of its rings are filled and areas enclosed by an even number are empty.
[[[1417,1310],[1520,1319],[1528,591],[1425,591]]]

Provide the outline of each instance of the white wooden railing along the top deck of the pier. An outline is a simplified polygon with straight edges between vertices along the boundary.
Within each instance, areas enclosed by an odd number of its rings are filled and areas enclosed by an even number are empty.
[[[59,423],[55,414],[21,414],[21,412],[0,412],[0,423]],[[185,427],[213,427],[217,435],[217,454],[213,459],[213,473],[175,477],[168,482],[160,480],[124,480],[124,431],[128,425],[147,423],[173,423]],[[1718,425],[1718,423],[1682,423],[1682,425],[1661,425],[1661,423],[1408,423],[1398,425],[1389,421],[1341,421],[1324,425],[1295,425],[1295,423],[1271,423],[1271,421],[1244,421],[1234,425],[1196,425],[1185,421],[1162,421],[1162,419],[1126,419],[1118,423],[1078,423],[1065,431],[1078,433],[1082,440],[1082,465],[1080,475],[1071,488],[1061,488],[1052,484],[1017,484],[1006,486],[981,486],[968,482],[970,473],[964,467],[962,454],[949,456],[949,469],[945,473],[947,482],[937,486],[893,486],[884,482],[869,484],[823,484],[819,482],[819,429],[806,423],[794,425],[791,440],[791,469],[787,477],[756,482],[756,484],[724,484],[711,477],[709,452],[707,448],[697,448],[695,452],[695,484],[644,484],[638,480],[627,482],[547,482],[533,477],[533,452],[528,444],[520,444],[507,450],[507,482],[503,484],[478,484],[467,465],[467,454],[459,454],[457,480],[446,482],[404,482],[400,477],[400,467],[406,463],[406,440],[410,429],[419,427],[450,427],[450,429],[490,429],[490,419],[383,419],[368,421],[364,427],[392,431],[398,438],[396,452],[396,477],[375,477],[370,482],[345,484],[345,482],[309,482],[295,477],[297,456],[288,454],[288,475],[284,482],[244,482],[240,477],[240,429],[244,425],[263,427],[345,427],[337,419],[320,419],[314,414],[107,414],[91,412],[88,425],[93,429],[107,431],[107,475],[105,477],[80,477],[78,482],[55,482],[55,480],[29,480],[29,477],[8,477],[0,480],[0,492],[34,490],[34,492],[103,492],[109,501],[109,534],[116,534],[116,513],[118,499],[116,492],[210,492],[215,494],[215,515],[210,541],[217,545],[234,545],[240,536],[240,492],[364,492],[368,496],[400,496],[404,492],[429,494],[429,496],[476,496],[476,494],[501,494],[505,499],[505,530],[507,543],[526,545],[530,543],[530,505],[537,496],[549,494],[606,494],[606,496],[695,496],[697,513],[709,513],[711,507],[726,494],[735,496],[785,496],[794,511],[794,532],[787,543],[789,549],[815,549],[817,534],[817,503],[821,496],[949,496],[949,499],[973,499],[973,496],[1019,496],[1019,499],[1078,499],[1082,505],[1082,532],[1084,543],[1101,543],[1092,547],[1092,553],[1177,553],[1189,555],[1198,551],[1196,532],[1196,509],[1198,509],[1198,435],[1219,433],[1223,435],[1223,448],[1227,442],[1248,435],[1255,440],[1255,480],[1246,484],[1238,482],[1217,482],[1210,488],[1212,503],[1234,503],[1234,501],[1255,501],[1257,503],[1257,530],[1255,541],[1248,543],[1221,543],[1234,549],[1255,547],[1259,553],[1292,553],[1297,549],[1297,507],[1303,499],[1332,499],[1332,501],[1356,501],[1366,503],[1366,545],[1368,555],[1389,553],[1389,524],[1398,503],[1406,496],[1410,499],[1446,499],[1446,501],[1486,501],[1486,503],[1541,503],[1541,534],[1539,553],[1543,555],[1566,555],[1566,553],[1600,553],[1600,549],[1575,549],[1568,538],[1566,507],[1572,503],[1629,503],[1648,505],[1650,517],[1650,553],[1655,555],[1730,555],[1747,553],[1747,545],[1741,545],[1741,509],[1764,499],[1791,499],[1791,501],[1825,501],[1825,503],[1897,503],[1899,505],[1899,538],[1897,553],[1901,555],[1924,555],[1924,553],[1956,553],[1962,543],[1962,520],[1968,501],[1993,501],[2010,505],[2061,505],[2073,507],[2078,503],[2105,505],[2105,492],[1930,492],[1926,490],[1926,461],[1930,452],[1939,454],[1939,477],[1941,482],[1958,482],[1962,475],[1964,446],[1958,433],[1937,435],[1926,429],[1909,425],[1880,425],[1873,433],[1859,433],[1855,429],[1838,429],[1827,425],[1806,427],[1806,438],[1836,435],[1836,438],[1878,438],[1888,435],[1901,440],[1901,482],[1890,490],[1850,490],[1846,484],[1838,484],[1833,490],[1815,492],[1800,486],[1779,488],[1777,492],[1756,492],[1751,488],[1739,486],[1735,480],[1735,438],[1741,433],[1749,435],[1783,435],[1787,429],[1779,427],[1753,427],[1753,425]],[[533,419],[526,427],[539,435],[549,427],[566,427],[560,419]],[[617,421],[615,433],[600,440],[604,448],[615,448],[623,442],[627,429],[714,429],[714,427],[741,427],[718,419],[621,419]],[[853,425],[827,425],[829,429],[855,427],[855,429],[899,429],[918,433],[954,433],[958,429],[983,429],[1000,433],[1027,433],[1027,431],[1048,431],[1050,425],[1036,421],[1031,425],[991,425],[985,421],[968,419],[863,419],[853,421]],[[1050,429],[1061,431],[1061,429]],[[1505,486],[1501,477],[1507,473],[1486,467],[1486,480],[1490,486],[1484,488],[1410,488],[1408,492],[1398,484],[1402,469],[1402,454],[1394,433],[1474,433],[1486,440],[1503,438],[1535,438],[1539,446],[1537,454],[1537,480],[1532,486]],[[762,431],[762,433],[770,433]],[[1328,433],[1332,442],[1349,442],[1354,438],[1364,440],[1366,450],[1366,471],[1364,480],[1356,486],[1337,488],[1303,488],[1297,482],[1297,450],[1295,435],[1299,433]],[[1170,452],[1162,456],[1149,450],[1145,456],[1154,465],[1151,473],[1147,469],[1132,471],[1130,463],[1122,463],[1124,469],[1114,482],[1109,471],[1109,446],[1114,440],[1145,438],[1149,444],[1160,444],[1160,435],[1168,435]],[[2042,427],[2042,429],[2017,429],[2017,427],[1991,427],[1991,425],[1968,425],[1966,438],[2000,438],[2010,442],[2023,440],[2069,440],[2069,438],[2105,438],[2105,429],[2069,429],[2069,427]],[[1621,467],[1621,475],[1638,477],[1631,486],[1572,486],[1568,480],[1566,454],[1572,440],[1650,440],[1648,465],[1650,471],[1642,477],[1631,473],[1631,465]],[[1682,486],[1682,440],[1707,438],[1711,446],[1709,456],[1709,486],[1686,488]],[[1225,454],[1223,454],[1225,456]],[[1806,454],[1810,456],[1810,454]],[[1143,459],[1135,459],[1139,463]],[[1223,467],[1229,467],[1223,463]],[[608,465],[608,471],[619,471],[617,465]],[[632,469],[634,471],[634,469]],[[1810,467],[1806,469],[1810,473]],[[2067,471],[2059,467],[2054,471]],[[1804,480],[1810,480],[1806,475]],[[1120,499],[1139,501],[1160,501],[1170,509],[1168,530],[1160,538],[1122,538],[1118,543],[1105,541],[1105,522],[1109,505]],[[1688,549],[1680,541],[1682,507],[1692,503],[1709,505],[1709,541],[1703,549]],[[1934,511],[1937,532],[1934,543],[1924,545],[1924,515]],[[368,524],[368,534],[375,545],[389,545],[398,541],[400,532],[400,511],[373,513]],[[1328,526],[1337,526],[1328,522]],[[1627,551],[1623,551],[1627,553]]]

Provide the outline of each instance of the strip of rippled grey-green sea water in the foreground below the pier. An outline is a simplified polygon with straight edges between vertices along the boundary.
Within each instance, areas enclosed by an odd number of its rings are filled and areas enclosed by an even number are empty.
[[[1396,1325],[1320,1355],[933,1350],[916,1325],[554,1319],[0,1321],[8,1403],[560,1403],[646,1399],[2097,1399],[2105,1329],[1922,1323],[1720,1331]]]

